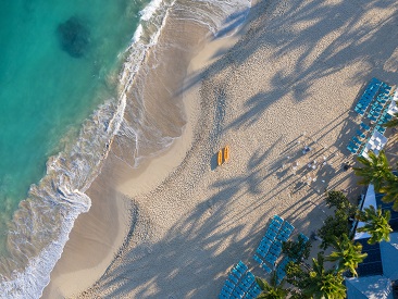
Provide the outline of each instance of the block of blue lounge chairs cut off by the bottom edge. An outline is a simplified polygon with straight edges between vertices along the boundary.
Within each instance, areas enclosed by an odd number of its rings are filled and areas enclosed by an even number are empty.
[[[256,283],[254,275],[248,266],[239,261],[232,270],[219,295],[219,299],[245,298],[254,299],[261,294],[260,286]]]

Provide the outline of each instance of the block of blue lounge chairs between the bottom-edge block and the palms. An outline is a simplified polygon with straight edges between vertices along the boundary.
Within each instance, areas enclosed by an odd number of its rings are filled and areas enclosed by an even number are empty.
[[[290,223],[284,221],[278,215],[275,215],[271,221],[253,256],[254,261],[266,273],[271,273],[271,266],[274,266],[282,253],[282,244],[287,241],[294,229],[295,227]]]

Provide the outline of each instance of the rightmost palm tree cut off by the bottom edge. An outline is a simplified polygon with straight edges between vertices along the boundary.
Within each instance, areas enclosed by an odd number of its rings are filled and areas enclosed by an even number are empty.
[[[310,283],[302,290],[304,296],[311,296],[314,299],[329,298],[344,299],[346,298],[346,287],[343,284],[341,273],[325,271],[323,266],[324,257],[318,254],[318,259],[312,259],[313,271],[310,272]]]

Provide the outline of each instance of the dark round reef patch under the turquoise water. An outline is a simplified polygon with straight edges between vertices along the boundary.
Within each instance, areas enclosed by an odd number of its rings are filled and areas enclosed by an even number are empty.
[[[90,33],[76,16],[72,16],[66,22],[61,23],[57,28],[57,34],[62,50],[66,51],[71,57],[80,58],[87,51]]]

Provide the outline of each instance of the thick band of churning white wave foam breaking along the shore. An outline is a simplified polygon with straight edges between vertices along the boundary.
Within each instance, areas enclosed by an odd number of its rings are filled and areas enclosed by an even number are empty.
[[[154,2],[159,5],[158,0]],[[157,7],[151,3],[150,8]],[[148,10],[146,21],[151,22],[151,16],[154,12]],[[144,36],[148,32],[142,23],[139,25],[120,77],[119,101],[110,100],[95,112],[83,125],[70,152],[49,159],[46,176],[38,186],[30,187],[29,198],[21,202],[8,236],[11,258],[1,261],[4,274],[0,274],[0,298],[39,298],[49,284],[76,217],[90,208],[91,201],[84,192],[99,174],[112,138],[120,129],[126,90],[145,59],[145,51],[156,43],[158,32]]]

